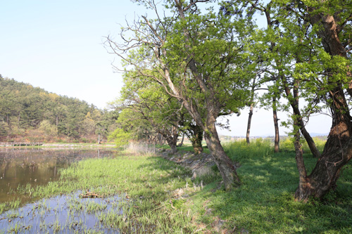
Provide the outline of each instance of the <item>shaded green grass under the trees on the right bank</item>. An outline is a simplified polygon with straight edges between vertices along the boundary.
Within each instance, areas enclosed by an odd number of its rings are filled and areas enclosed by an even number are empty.
[[[226,193],[214,190],[218,182],[210,183],[194,195],[198,213],[212,209],[211,216],[227,221],[228,230],[247,230],[249,233],[351,233],[352,232],[352,169],[344,170],[337,190],[325,200],[308,203],[294,201],[298,186],[298,172],[294,153],[274,154],[270,142],[258,140],[225,145],[232,160],[239,161],[237,173],[241,187]],[[315,159],[306,154],[308,171]],[[206,205],[201,205],[209,201]],[[212,221],[203,216],[205,223]],[[207,221],[210,220],[210,221]],[[236,227],[236,228],[234,228]]]

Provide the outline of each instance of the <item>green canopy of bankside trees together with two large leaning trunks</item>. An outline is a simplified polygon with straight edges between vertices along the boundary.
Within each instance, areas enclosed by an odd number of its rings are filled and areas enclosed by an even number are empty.
[[[158,119],[153,113],[165,108],[165,100],[175,100],[201,127],[225,188],[231,189],[239,178],[220,144],[216,119],[253,105],[256,90],[265,89],[258,101],[271,105],[275,131],[276,111],[291,113],[291,121],[284,124],[295,136],[300,172],[296,199],[322,197],[334,187],[352,157],[350,1],[137,2],[155,17],[128,22],[122,27],[123,43],[107,37],[106,46],[122,58],[124,67],[117,68],[132,81],[127,84],[132,96],[144,98],[133,103],[134,108],[158,107],[146,109],[149,123]],[[266,27],[257,25],[258,15],[263,15]],[[136,84],[149,88],[137,89]],[[163,93],[163,98],[153,99],[156,93]],[[283,99],[286,103],[278,102]],[[319,152],[306,123],[322,110],[329,110],[333,122],[325,149]],[[182,128],[180,122],[166,125]],[[301,135],[319,158],[310,175]]]

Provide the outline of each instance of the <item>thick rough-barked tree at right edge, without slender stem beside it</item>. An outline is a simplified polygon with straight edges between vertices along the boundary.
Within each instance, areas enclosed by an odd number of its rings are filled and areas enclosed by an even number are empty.
[[[298,164],[300,183],[296,199],[304,201],[312,196],[322,197],[334,188],[341,169],[352,158],[352,117],[344,92],[351,98],[352,2],[303,1],[289,11],[309,22],[310,37],[316,34],[321,41],[318,46],[323,51],[317,49],[318,58],[313,61],[315,70],[311,64],[305,64],[302,70],[309,72],[306,74],[322,72],[320,76],[309,77],[320,83],[320,98],[327,103],[333,119],[327,143],[313,171],[307,175],[304,163]]]

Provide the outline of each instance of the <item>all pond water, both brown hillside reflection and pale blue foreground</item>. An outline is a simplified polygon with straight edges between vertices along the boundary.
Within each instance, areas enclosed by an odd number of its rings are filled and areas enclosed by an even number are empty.
[[[116,157],[117,150],[0,150],[0,203],[20,198],[22,205],[0,214],[0,230],[8,233],[118,233],[106,225],[113,214],[123,220],[122,207],[128,199],[111,197],[80,198],[82,191],[42,200],[14,197],[18,186],[45,185],[58,180],[60,169],[92,157]],[[27,199],[27,200],[26,200]]]

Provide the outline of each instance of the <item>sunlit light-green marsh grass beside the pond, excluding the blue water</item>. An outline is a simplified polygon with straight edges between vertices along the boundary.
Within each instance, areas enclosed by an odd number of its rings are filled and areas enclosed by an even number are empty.
[[[118,205],[123,215],[100,212],[99,219],[103,226],[132,233],[189,233],[194,229],[191,216],[184,212],[182,202],[176,202],[176,208],[172,207],[175,202],[172,193],[186,184],[189,191],[193,190],[190,176],[187,169],[155,156],[95,158],[82,160],[61,170],[58,181],[35,188],[21,186],[13,193],[37,198],[70,194],[77,190],[89,190],[104,197],[120,195],[122,200]],[[80,199],[76,200],[68,202],[69,210],[94,213],[104,208],[91,203],[83,206]],[[35,209],[39,210],[38,207]]]

